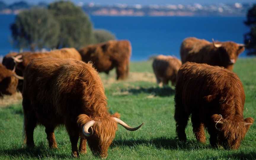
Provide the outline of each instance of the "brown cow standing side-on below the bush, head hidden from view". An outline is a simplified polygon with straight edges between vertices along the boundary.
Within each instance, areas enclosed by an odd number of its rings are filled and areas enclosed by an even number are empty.
[[[131,44],[128,40],[110,40],[105,43],[88,45],[79,50],[82,60],[91,61],[98,72],[108,72],[116,67],[116,79],[126,79],[129,74]]]

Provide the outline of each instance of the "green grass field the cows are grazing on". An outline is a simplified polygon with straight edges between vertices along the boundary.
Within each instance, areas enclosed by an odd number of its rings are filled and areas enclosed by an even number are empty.
[[[176,139],[174,87],[159,88],[151,62],[133,62],[126,81],[115,81],[115,71],[102,77],[108,107],[119,112],[131,126],[145,125],[135,132],[119,125],[108,150],[107,159],[256,159],[256,123],[238,150],[211,148],[196,141],[191,123],[186,129],[188,141]],[[234,67],[244,85],[246,104],[244,117],[256,118],[256,58],[239,59]],[[58,149],[49,149],[44,127],[34,132],[36,147],[23,146],[23,110],[20,103],[0,108],[0,159],[71,159],[71,143],[64,128],[55,130]],[[207,138],[209,135],[207,133]],[[97,159],[87,147],[80,159]]]

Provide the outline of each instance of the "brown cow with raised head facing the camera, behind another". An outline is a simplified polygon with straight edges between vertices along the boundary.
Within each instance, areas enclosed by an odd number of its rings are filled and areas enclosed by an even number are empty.
[[[212,42],[189,37],[183,40],[180,47],[182,63],[207,63],[233,70],[238,55],[244,51],[244,44],[234,42]]]

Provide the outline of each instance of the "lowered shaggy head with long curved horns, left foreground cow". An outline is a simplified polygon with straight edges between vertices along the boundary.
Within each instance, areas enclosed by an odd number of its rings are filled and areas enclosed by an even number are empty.
[[[99,155],[102,158],[108,156],[108,148],[115,138],[117,124],[130,131],[135,131],[144,124],[142,123],[136,128],[131,128],[120,120],[119,117],[120,115],[115,113],[106,117],[95,117],[91,120],[87,115],[79,115],[77,122],[80,124],[83,136],[86,136],[89,147],[95,156]]]

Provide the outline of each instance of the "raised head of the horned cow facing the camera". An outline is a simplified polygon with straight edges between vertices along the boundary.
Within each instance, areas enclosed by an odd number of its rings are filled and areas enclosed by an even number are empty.
[[[244,51],[244,44],[234,42],[214,42],[212,44],[217,49],[221,66],[228,68],[230,71],[233,69],[233,64],[236,63],[237,57]]]

